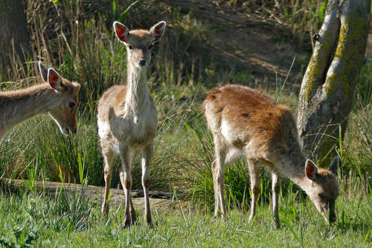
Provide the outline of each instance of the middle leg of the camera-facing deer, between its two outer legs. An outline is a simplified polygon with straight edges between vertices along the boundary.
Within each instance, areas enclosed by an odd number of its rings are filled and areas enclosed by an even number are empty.
[[[123,185],[125,194],[125,217],[124,217],[124,227],[129,227],[136,222],[136,211],[134,210],[132,203],[132,196],[130,191],[132,189],[132,174],[131,165],[134,159],[134,151],[128,149],[125,145],[119,145],[121,167],[119,169],[119,175],[121,180],[121,185]]]

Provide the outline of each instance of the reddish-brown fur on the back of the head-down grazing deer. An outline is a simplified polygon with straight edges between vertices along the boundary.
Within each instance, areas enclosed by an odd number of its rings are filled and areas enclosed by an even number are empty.
[[[241,134],[232,143],[238,149],[253,141],[254,148],[263,154],[288,149],[288,134],[297,138],[292,132],[295,125],[289,108],[276,104],[256,90],[241,85],[226,85],[208,94],[203,104],[204,111],[208,103],[212,103],[210,111],[215,113],[218,123],[227,119],[231,127]],[[278,143],[278,140],[281,142]]]

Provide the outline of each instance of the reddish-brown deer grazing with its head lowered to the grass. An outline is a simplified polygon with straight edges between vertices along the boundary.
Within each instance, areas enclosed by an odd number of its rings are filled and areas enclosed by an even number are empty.
[[[207,95],[203,103],[207,125],[214,136],[216,160],[214,178],[214,215],[226,215],[223,194],[225,168],[245,155],[251,176],[251,214],[254,218],[260,192],[260,165],[272,172],[273,218],[278,216],[279,175],[284,174],[309,195],[326,222],[334,222],[338,196],[338,159],[329,170],[316,167],[302,154],[296,123],[288,107],[241,85],[226,85]],[[220,209],[220,212],[219,212]]]

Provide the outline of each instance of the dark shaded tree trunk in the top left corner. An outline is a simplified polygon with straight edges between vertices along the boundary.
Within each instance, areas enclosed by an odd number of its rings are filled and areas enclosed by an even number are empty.
[[[25,61],[30,51],[25,8],[22,0],[0,0],[0,75],[10,71],[14,55]]]

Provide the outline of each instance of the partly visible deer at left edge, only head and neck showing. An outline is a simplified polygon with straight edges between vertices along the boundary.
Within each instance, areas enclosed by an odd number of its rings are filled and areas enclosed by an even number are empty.
[[[76,133],[79,83],[63,79],[54,69],[45,68],[40,61],[39,70],[45,83],[0,92],[0,138],[14,125],[45,112],[49,112],[63,134]]]

